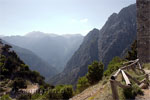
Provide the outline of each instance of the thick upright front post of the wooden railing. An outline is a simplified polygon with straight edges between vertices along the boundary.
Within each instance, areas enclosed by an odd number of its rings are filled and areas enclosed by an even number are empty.
[[[110,80],[111,90],[112,90],[112,96],[114,100],[119,100],[119,95],[117,91],[117,84],[115,83],[115,80]]]

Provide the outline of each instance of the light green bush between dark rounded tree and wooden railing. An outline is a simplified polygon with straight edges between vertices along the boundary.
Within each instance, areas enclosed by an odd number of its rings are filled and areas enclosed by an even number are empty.
[[[104,76],[109,76],[120,67],[122,67],[124,60],[119,57],[114,57],[112,61],[109,62],[107,70],[104,72]]]

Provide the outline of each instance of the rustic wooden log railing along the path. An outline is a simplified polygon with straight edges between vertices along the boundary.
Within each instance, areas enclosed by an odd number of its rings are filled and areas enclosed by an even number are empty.
[[[130,74],[125,72],[125,70],[129,70],[129,69],[132,69],[135,73],[137,73],[136,69],[141,71],[144,74],[145,78],[142,81],[138,81],[136,78],[132,77]],[[120,73],[122,74],[123,79],[125,80],[125,83],[126,83],[125,85],[121,84],[121,82],[116,80],[117,76]],[[141,85],[142,83],[146,84],[146,80],[148,80],[148,74],[146,74],[145,71],[143,70],[141,64],[139,63],[139,59],[124,63],[124,66],[118,69],[117,72],[111,76],[110,84],[111,84],[112,96],[114,100],[119,100],[117,86],[121,88],[131,87],[132,84],[129,79],[133,80],[138,85]]]

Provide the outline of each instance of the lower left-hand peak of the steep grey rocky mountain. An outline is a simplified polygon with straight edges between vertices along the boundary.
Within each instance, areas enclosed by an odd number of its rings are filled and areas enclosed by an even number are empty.
[[[54,84],[74,84],[78,77],[86,74],[87,65],[98,60],[98,34],[98,29],[89,32],[67,63],[64,71],[50,79],[50,83],[53,81]]]

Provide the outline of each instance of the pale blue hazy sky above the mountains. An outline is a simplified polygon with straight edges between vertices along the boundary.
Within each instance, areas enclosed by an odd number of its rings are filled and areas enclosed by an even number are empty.
[[[86,35],[136,0],[0,0],[0,35]]]

